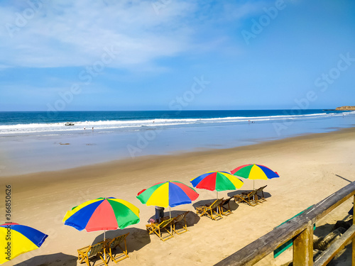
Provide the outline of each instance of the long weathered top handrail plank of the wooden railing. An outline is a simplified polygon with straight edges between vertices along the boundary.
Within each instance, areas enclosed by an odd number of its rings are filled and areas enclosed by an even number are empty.
[[[293,238],[304,231],[308,223],[315,223],[318,219],[322,218],[344,201],[349,199],[355,194],[355,182],[351,182],[346,187],[339,189],[338,192],[328,196],[326,199],[315,204],[315,206],[306,211],[305,213],[297,216],[282,226],[275,228],[273,231],[258,238],[253,243],[246,245],[236,253],[226,257],[224,260],[218,262],[217,266],[234,266],[234,265],[254,265],[263,257],[273,252],[275,248],[286,241]],[[355,265],[354,265],[355,266]]]

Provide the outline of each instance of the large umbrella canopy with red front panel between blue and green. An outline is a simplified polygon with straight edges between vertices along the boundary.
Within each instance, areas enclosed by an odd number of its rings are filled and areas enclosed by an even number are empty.
[[[123,199],[99,198],[67,211],[63,222],[79,231],[116,230],[138,223],[139,209]]]

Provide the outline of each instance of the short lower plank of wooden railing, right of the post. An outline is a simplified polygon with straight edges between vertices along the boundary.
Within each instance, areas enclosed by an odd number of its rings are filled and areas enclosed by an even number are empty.
[[[322,255],[315,261],[314,266],[327,265],[332,258],[342,250],[349,241],[355,236],[355,226],[351,226],[346,232],[336,240]]]

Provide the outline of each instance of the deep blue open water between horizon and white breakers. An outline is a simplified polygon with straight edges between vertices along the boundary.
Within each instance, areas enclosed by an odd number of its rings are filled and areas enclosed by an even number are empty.
[[[146,121],[153,119],[262,118],[269,116],[307,116],[343,113],[310,110],[197,110],[197,111],[18,111],[0,112],[0,126],[35,123],[99,121]]]

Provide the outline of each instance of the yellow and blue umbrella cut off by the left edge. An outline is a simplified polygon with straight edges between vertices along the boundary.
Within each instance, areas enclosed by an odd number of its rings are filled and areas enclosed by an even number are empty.
[[[48,235],[35,228],[18,223],[4,223],[0,226],[0,264],[31,250],[40,248]]]

